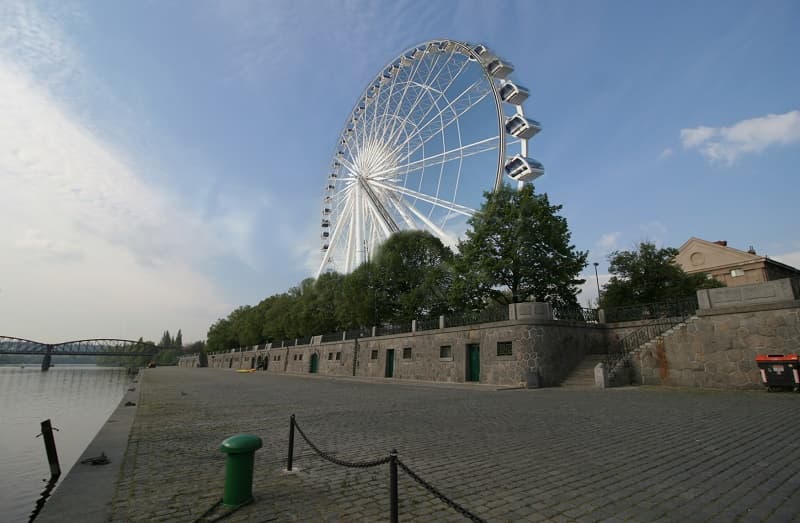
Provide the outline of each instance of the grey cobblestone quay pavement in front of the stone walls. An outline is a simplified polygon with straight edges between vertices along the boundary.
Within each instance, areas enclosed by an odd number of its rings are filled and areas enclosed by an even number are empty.
[[[195,521],[222,495],[226,437],[264,440],[256,502],[224,521],[386,521],[400,459],[489,521],[800,521],[800,395],[661,388],[495,391],[158,368],[142,396],[113,521]],[[463,521],[402,471],[401,521]],[[210,514],[224,514],[217,509]]]

